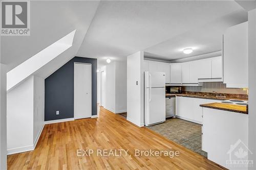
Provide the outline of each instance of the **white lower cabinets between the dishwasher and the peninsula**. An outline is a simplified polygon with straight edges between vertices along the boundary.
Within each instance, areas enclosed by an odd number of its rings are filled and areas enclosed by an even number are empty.
[[[203,110],[202,107],[200,107],[199,105],[214,102],[220,101],[176,96],[176,117],[197,124],[202,124]]]

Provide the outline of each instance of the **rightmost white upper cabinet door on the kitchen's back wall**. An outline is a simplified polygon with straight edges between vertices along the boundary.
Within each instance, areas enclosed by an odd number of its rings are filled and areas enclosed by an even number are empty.
[[[211,78],[222,78],[222,56],[211,59]]]

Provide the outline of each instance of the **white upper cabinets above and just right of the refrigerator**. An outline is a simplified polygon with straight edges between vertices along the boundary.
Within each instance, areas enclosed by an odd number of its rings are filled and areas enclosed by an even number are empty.
[[[146,64],[146,62],[148,64]],[[146,68],[146,65],[148,65],[148,71],[165,72],[165,83],[170,83],[170,64],[169,63],[144,60],[143,68]]]

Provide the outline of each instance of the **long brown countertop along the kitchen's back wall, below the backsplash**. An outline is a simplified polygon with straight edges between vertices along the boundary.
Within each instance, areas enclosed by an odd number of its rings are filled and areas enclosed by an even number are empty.
[[[236,98],[236,97],[226,97],[225,99],[223,98],[216,98],[216,95],[202,95],[202,94],[187,94],[187,93],[166,93],[166,97],[175,97],[175,96],[182,96],[182,97],[187,97],[187,98],[200,98],[200,99],[213,99],[213,100],[220,100],[220,101],[225,101],[225,100],[231,100],[231,99],[236,99],[236,100],[242,100],[242,101],[248,101],[248,98]]]

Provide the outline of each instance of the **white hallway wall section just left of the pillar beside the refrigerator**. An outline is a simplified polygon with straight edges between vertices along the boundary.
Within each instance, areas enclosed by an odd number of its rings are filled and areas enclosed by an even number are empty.
[[[127,111],[127,63],[116,61],[116,111]]]

